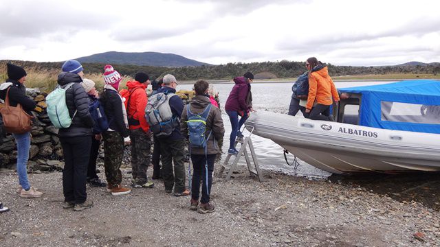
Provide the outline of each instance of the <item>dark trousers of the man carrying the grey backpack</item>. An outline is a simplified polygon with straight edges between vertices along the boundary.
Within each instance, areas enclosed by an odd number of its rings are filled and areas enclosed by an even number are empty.
[[[186,189],[185,140],[170,138],[158,138],[158,140],[160,142],[160,152],[162,153],[162,178],[164,179],[165,189],[171,190],[174,186],[175,193],[182,193]]]

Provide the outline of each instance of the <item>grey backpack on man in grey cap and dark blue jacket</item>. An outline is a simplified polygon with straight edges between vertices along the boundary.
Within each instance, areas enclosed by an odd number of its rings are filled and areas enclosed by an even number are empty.
[[[173,117],[169,104],[170,97],[174,95],[175,93],[156,93],[148,99],[145,118],[156,137],[168,137],[179,125],[179,119]]]

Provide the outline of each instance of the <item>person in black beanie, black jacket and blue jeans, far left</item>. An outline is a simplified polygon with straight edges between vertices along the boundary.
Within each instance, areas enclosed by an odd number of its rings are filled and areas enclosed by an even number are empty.
[[[8,80],[0,85],[0,98],[5,100],[6,93],[9,89],[10,106],[21,104],[23,109],[31,115],[30,111],[34,110],[36,103],[34,100],[26,97],[26,71],[14,64],[8,63]],[[12,134],[17,143],[17,174],[19,174],[19,182],[21,185],[20,196],[25,198],[41,197],[42,192],[32,187],[28,180],[28,159],[30,150],[30,132],[24,134]]]

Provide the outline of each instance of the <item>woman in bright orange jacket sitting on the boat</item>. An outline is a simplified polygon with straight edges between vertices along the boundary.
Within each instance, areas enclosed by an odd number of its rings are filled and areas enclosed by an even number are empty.
[[[309,119],[334,121],[330,115],[330,106],[333,101],[339,102],[338,91],[331,80],[329,69],[312,57],[306,61],[309,70],[309,95],[305,106],[305,113]]]

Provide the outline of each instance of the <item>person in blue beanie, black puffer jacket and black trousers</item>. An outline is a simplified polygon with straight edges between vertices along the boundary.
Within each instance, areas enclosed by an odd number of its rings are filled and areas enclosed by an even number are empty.
[[[63,89],[67,84],[74,82],[66,90],[66,104],[72,117],[72,124],[69,128],[61,128],[58,132],[65,162],[63,208],[74,208],[74,211],[93,206],[93,202],[87,200],[86,180],[94,120],[89,113],[89,96],[80,84],[83,82],[80,75],[83,74],[83,67],[78,61],[67,60],[63,64],[63,72],[58,75],[58,85]]]

